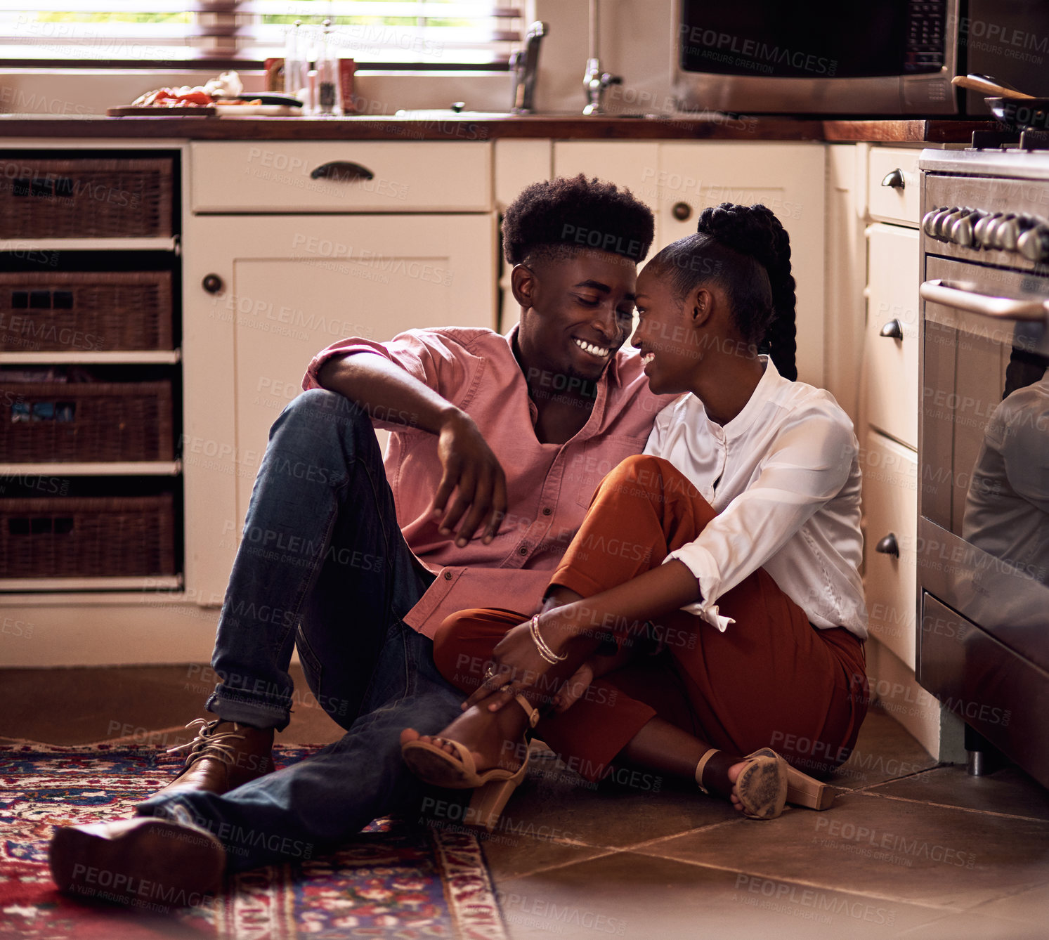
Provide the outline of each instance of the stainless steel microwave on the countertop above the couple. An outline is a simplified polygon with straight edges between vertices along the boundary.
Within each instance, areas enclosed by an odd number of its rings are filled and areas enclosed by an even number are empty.
[[[1045,0],[673,0],[683,110],[979,114],[981,72],[1049,95]]]

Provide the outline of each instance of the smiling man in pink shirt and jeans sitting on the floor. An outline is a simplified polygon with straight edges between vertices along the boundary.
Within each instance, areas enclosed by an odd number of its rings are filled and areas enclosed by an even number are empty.
[[[621,349],[651,212],[580,175],[527,188],[502,232],[520,305],[505,336],[412,329],[342,340],[309,363],[244,525],[280,550],[244,539],[231,573],[212,659],[222,682],[206,705],[216,719],[198,720],[185,767],[136,817],[58,830],[60,889],[89,897],[85,873],[104,870],[132,885],[128,903],[147,881],[185,903],[226,870],[311,857],[420,805],[400,732],[436,732],[463,700],[433,665],[434,631],[493,601],[538,610],[597,484],[641,451],[669,401]],[[385,458],[377,427],[391,432]],[[293,646],[346,733],[273,772]]]

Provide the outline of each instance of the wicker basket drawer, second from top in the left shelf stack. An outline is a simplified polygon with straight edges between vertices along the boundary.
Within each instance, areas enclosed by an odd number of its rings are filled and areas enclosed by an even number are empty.
[[[0,272],[0,349],[171,349],[171,272]]]

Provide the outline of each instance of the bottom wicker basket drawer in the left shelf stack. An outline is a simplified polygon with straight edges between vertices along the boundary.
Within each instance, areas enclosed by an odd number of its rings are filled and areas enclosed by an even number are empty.
[[[0,571],[7,578],[175,574],[170,493],[0,499]]]

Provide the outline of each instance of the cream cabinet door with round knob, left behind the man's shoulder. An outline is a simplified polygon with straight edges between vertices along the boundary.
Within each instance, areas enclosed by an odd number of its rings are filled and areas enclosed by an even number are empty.
[[[187,585],[229,578],[270,426],[345,337],[495,325],[495,216],[190,220],[184,375]],[[217,279],[217,280],[216,280]]]

